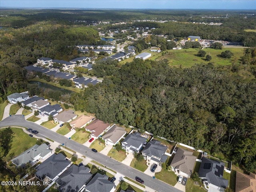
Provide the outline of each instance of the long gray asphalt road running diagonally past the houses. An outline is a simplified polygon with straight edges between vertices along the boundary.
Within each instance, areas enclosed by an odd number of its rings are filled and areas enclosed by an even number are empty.
[[[62,136],[61,134],[53,132],[33,122],[26,121],[24,119],[24,116],[22,115],[13,115],[2,120],[0,122],[0,127],[5,127],[5,126],[24,126],[27,128],[32,128],[33,130],[37,130],[39,132],[37,136],[50,138],[51,140],[54,140],[60,144],[64,143],[68,148],[76,152],[79,152],[84,156],[88,156],[92,160],[95,160],[96,162],[99,162],[100,164],[112,170],[116,170],[116,172],[119,172],[124,176],[132,178],[134,180],[135,180],[135,176],[142,178],[144,180],[144,185],[156,190],[157,192],[181,192],[180,190],[174,188],[173,186],[170,186],[169,184],[166,184],[165,182],[162,182],[158,179],[153,179],[152,177],[144,174],[143,172],[140,172],[130,166],[126,166],[108,156],[105,156],[99,152],[94,153],[90,148],[82,144],[79,144],[73,140],[70,140]]]

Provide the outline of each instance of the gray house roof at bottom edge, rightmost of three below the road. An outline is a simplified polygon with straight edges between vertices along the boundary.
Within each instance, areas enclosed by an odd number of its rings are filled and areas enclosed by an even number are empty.
[[[108,176],[97,173],[85,188],[90,192],[110,192],[114,185],[108,180]]]

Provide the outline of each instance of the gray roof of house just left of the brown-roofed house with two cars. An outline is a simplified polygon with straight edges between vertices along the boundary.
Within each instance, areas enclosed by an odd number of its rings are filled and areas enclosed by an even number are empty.
[[[153,139],[142,150],[142,153],[145,153],[149,157],[156,156],[158,158],[162,158],[167,148],[167,146],[161,145],[160,141]]]

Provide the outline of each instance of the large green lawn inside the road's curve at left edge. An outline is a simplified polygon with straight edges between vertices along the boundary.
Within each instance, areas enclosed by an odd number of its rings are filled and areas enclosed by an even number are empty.
[[[4,128],[1,129],[1,131],[6,131],[6,133],[4,133],[5,135],[13,133],[10,150],[5,157],[5,160],[11,160],[36,144],[36,138],[28,136],[28,134],[24,133],[20,128]]]

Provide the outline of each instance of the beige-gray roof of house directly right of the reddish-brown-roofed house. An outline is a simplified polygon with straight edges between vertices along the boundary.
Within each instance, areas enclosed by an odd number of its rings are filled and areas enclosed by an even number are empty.
[[[113,143],[116,143],[124,134],[126,133],[126,130],[124,130],[123,127],[118,127],[116,125],[112,126],[108,132],[106,132],[102,138],[109,139]]]

